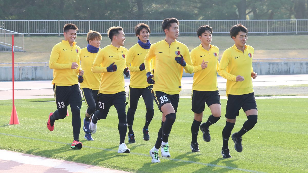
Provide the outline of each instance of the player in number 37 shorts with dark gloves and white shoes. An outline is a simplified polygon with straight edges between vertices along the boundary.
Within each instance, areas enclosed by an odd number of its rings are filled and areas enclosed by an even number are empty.
[[[111,44],[99,50],[92,65],[93,73],[102,73],[99,85],[99,110],[95,111],[90,122],[90,131],[96,132],[96,123],[100,119],[106,119],[112,105],[118,113],[118,130],[120,133],[120,146],[118,153],[129,153],[124,141],[127,132],[126,121],[126,94],[124,89],[124,75],[128,77],[129,70],[126,67],[125,58],[128,50],[123,47],[125,34],[120,26],[111,27],[107,32]]]

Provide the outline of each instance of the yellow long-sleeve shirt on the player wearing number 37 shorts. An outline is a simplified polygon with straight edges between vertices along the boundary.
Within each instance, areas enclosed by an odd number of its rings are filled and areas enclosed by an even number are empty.
[[[99,50],[93,62],[91,71],[93,73],[102,73],[99,93],[115,94],[125,91],[123,70],[126,68],[126,57],[128,50],[125,47],[115,47],[112,44]],[[107,67],[115,62],[117,70],[107,72]]]

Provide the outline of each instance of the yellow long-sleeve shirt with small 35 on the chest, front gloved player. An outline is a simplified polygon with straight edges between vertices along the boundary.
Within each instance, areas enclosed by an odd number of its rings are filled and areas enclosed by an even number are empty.
[[[151,59],[155,58],[153,91],[162,91],[170,95],[180,93],[183,66],[174,59],[176,56],[180,57],[180,54],[186,62],[184,69],[188,73],[193,73],[194,67],[185,44],[175,40],[169,46],[168,42],[162,40],[150,47],[144,58],[144,66],[146,72],[152,72]]]

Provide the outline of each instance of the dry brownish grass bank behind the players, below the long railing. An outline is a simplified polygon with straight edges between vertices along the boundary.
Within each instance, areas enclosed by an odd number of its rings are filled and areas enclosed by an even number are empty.
[[[15,52],[15,62],[49,62],[52,47],[61,42],[63,36],[38,37],[31,36],[24,38],[25,52]],[[150,36],[151,43],[164,39],[163,36]],[[192,50],[200,44],[197,36],[180,36],[180,42],[186,44]],[[249,36],[247,44],[255,49],[253,58],[308,58],[307,56],[308,35],[286,35],[286,36]],[[87,46],[86,36],[77,36],[77,45],[81,48]],[[103,35],[101,48],[109,45],[110,39]],[[137,43],[135,36],[127,36],[125,45],[127,49]],[[234,44],[229,36],[215,36],[213,34],[212,44],[219,47],[219,57],[225,49]],[[263,60],[259,60],[263,61]],[[267,61],[308,61],[304,60],[267,60]],[[11,52],[1,52],[0,62],[12,62]],[[3,65],[2,65],[3,66]],[[9,66],[9,65],[5,65]]]

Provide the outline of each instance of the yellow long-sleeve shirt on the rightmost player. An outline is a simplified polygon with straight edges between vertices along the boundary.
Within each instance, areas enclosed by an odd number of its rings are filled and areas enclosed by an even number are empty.
[[[222,54],[218,74],[227,79],[226,95],[243,95],[253,92],[251,79],[253,53],[252,46],[245,45],[243,53],[234,44]],[[245,80],[236,82],[238,75],[243,76]]]

